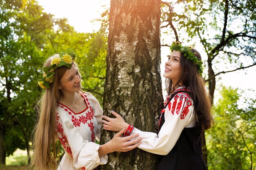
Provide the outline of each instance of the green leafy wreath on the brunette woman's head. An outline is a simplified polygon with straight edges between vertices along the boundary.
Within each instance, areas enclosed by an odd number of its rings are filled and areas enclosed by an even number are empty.
[[[187,59],[191,60],[193,62],[193,64],[196,65],[196,68],[198,69],[198,73],[202,77],[203,62],[201,60],[199,60],[198,57],[196,57],[196,53],[192,52],[191,48],[192,47],[189,47],[189,46],[182,46],[179,41],[173,41],[173,43],[170,47],[171,52],[173,52],[173,51],[182,52]]]

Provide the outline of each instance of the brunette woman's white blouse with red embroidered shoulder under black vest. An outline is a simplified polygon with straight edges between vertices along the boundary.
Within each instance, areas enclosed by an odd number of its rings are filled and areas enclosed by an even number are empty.
[[[189,88],[178,87],[174,92],[179,90],[189,91]],[[167,97],[166,101],[168,101]],[[143,139],[138,148],[158,155],[167,155],[176,144],[182,130],[185,127],[196,125],[196,116],[193,114],[193,101],[190,96],[184,92],[177,93],[167,104],[164,112],[164,124],[158,135],[152,132],[140,131],[134,128],[131,134],[139,134]],[[162,119],[162,118],[160,118]]]

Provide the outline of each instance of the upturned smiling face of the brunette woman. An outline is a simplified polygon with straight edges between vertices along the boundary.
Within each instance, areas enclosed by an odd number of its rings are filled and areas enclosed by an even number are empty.
[[[173,51],[173,53],[168,57],[168,61],[165,62],[164,77],[170,78],[173,85],[175,85],[180,79],[181,74],[182,68],[180,66],[180,52]]]

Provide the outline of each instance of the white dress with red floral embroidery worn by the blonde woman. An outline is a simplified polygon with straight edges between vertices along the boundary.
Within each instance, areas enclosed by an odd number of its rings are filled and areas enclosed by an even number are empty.
[[[67,106],[58,103],[56,109],[56,131],[65,154],[58,170],[92,170],[106,164],[108,155],[99,157],[99,141],[103,110],[98,100],[90,93],[82,93],[87,108],[74,113]]]

